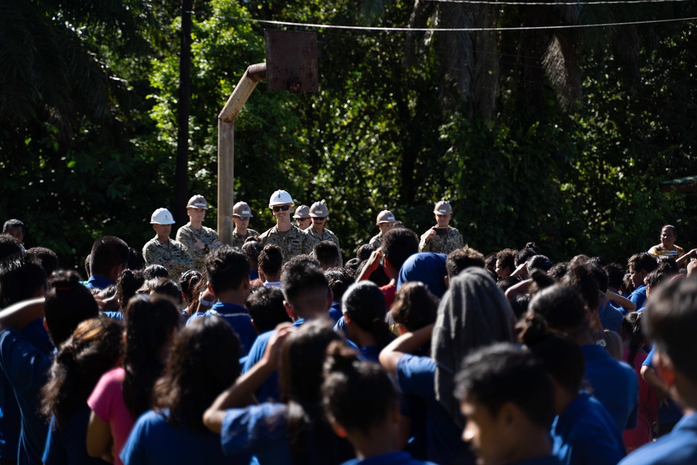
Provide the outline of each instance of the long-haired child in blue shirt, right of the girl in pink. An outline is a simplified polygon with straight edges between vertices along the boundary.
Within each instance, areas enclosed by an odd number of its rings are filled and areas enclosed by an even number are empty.
[[[137,420],[121,451],[123,464],[231,463],[220,437],[204,426],[203,414],[240,373],[239,352],[237,335],[220,317],[187,326],[155,384],[155,409]],[[238,463],[250,459],[237,458]]]

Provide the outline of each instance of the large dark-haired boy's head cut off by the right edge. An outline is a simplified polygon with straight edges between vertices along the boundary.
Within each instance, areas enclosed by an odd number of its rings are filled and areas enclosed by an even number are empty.
[[[697,408],[697,280],[673,280],[657,289],[642,317],[661,379],[682,402]]]

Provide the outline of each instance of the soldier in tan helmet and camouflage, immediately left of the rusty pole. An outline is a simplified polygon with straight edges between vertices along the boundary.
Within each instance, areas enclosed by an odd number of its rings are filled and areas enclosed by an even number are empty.
[[[189,222],[176,231],[176,240],[181,243],[194,259],[194,269],[203,271],[206,268],[206,255],[211,250],[222,245],[217,232],[205,227],[202,223],[206,218],[208,202],[203,195],[194,195],[186,204]]]

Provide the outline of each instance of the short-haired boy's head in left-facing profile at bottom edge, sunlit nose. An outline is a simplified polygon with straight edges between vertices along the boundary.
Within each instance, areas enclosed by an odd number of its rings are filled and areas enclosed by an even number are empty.
[[[531,435],[546,437],[554,418],[554,392],[544,368],[512,344],[485,347],[468,356],[455,395],[467,418],[462,439],[484,464],[518,462]]]

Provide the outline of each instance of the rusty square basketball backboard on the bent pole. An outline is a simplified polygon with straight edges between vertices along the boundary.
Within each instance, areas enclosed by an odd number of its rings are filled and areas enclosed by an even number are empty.
[[[317,34],[263,31],[266,43],[266,85],[273,91],[316,92]]]

